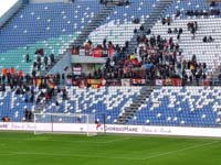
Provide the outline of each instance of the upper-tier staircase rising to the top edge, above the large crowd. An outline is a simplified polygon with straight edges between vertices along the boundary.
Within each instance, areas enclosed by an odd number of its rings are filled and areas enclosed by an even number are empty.
[[[146,34],[145,32],[151,29],[157,21],[164,15],[166,9],[172,3],[172,0],[160,0],[156,3],[155,10],[150,13],[149,18],[145,20],[143,26],[145,31],[137,30],[137,33],[134,34],[131,40],[129,41],[128,52],[134,53],[137,47],[137,36]]]

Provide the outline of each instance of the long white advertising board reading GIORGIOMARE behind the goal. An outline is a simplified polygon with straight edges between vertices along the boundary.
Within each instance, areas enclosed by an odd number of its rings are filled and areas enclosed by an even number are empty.
[[[0,122],[1,131],[49,131],[51,123],[22,123]],[[90,130],[88,130],[90,128]],[[221,128],[185,128],[185,127],[150,127],[150,125],[117,125],[117,124],[80,124],[53,123],[54,132],[97,132],[115,134],[144,134],[144,135],[178,135],[178,136],[210,136],[221,138]]]

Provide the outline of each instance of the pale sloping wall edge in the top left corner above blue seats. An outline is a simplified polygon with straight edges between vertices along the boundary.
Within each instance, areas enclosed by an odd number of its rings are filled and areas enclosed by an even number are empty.
[[[11,9],[9,9],[1,18],[0,18],[0,26],[2,26],[13,14],[22,7],[23,1],[19,0],[17,3],[14,3]]]

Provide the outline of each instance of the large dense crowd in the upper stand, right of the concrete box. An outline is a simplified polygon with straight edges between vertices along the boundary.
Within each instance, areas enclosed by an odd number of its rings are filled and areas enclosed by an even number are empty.
[[[172,20],[167,16],[161,20],[162,24],[170,26]],[[194,38],[198,31],[198,22],[188,22],[188,31]],[[107,56],[105,66],[95,70],[93,74],[84,75],[84,78],[105,78],[105,79],[122,79],[122,78],[144,78],[149,81],[155,79],[180,78],[183,84],[203,80],[210,78],[208,75],[207,64],[198,63],[196,55],[192,59],[186,61],[182,51],[179,47],[179,42],[173,42],[172,37],[164,38],[160,35],[151,35],[151,30],[146,30],[143,25],[134,30],[137,35],[137,48],[133,54],[128,54],[128,43],[125,43],[123,51],[118,45],[112,42],[114,56]],[[177,34],[177,41],[180,40],[183,33],[182,28],[168,28],[169,34]],[[106,40],[104,40],[106,43]],[[207,42],[211,42],[211,36],[207,37]],[[103,45],[98,45],[104,48]],[[120,54],[120,55],[119,55]]]

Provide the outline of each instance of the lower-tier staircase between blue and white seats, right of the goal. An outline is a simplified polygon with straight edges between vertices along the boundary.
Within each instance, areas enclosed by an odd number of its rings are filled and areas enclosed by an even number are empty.
[[[118,117],[117,124],[126,124],[129,119],[131,119],[134,114],[138,111],[139,107],[146,101],[146,99],[149,98],[152,91],[154,87],[144,87],[137,99],[134,100],[129,107],[125,108],[122,116]]]

